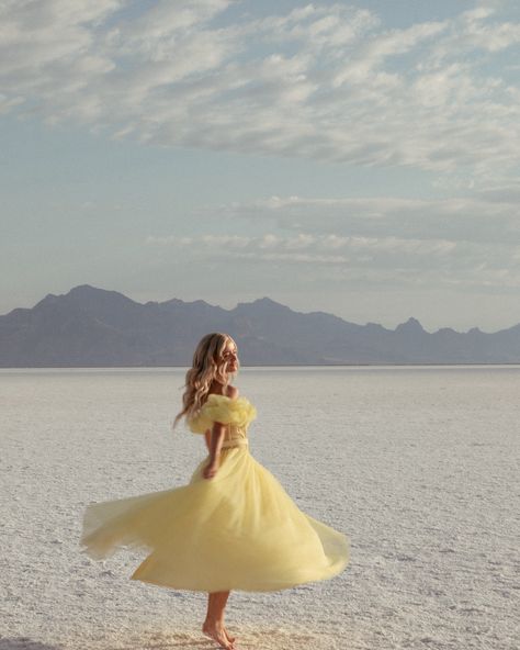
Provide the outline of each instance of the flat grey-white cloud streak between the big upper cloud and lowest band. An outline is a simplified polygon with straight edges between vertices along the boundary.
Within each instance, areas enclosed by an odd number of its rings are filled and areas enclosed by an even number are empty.
[[[518,184],[451,199],[271,197],[219,208],[227,215],[284,229],[362,237],[448,239],[515,246],[520,240]]]

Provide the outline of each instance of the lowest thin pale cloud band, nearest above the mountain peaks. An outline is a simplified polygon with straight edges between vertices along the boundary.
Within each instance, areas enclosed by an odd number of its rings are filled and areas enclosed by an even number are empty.
[[[276,265],[282,278],[297,274],[299,282],[355,281],[364,285],[406,288],[494,288],[497,293],[520,288],[520,256],[505,245],[489,248],[473,243],[402,239],[398,237],[309,238],[305,234],[280,237],[204,235],[149,237],[148,245],[174,247],[192,262],[249,269]],[[237,266],[238,265],[238,266]],[[218,267],[212,266],[215,269]]]

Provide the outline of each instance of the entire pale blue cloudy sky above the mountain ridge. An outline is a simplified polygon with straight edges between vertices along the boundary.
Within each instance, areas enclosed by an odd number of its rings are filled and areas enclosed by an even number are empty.
[[[0,0],[0,313],[520,323],[517,0]]]

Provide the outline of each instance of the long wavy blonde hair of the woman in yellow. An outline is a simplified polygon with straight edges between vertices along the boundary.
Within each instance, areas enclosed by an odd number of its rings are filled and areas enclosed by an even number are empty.
[[[181,417],[193,417],[202,408],[207,400],[210,388],[216,380],[223,384],[223,394],[229,384],[229,372],[227,372],[227,360],[223,352],[226,344],[231,341],[236,345],[229,334],[213,332],[206,334],[195,348],[193,363],[186,372],[185,391],[182,395],[182,411],[177,414],[173,427]]]

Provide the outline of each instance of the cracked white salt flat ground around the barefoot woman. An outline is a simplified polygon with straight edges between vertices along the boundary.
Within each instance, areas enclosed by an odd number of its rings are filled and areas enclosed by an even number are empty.
[[[0,371],[0,650],[203,650],[206,596],[79,552],[91,501],[185,483],[183,370]],[[351,539],[349,568],[231,593],[244,649],[519,647],[520,367],[244,369],[253,456]]]

